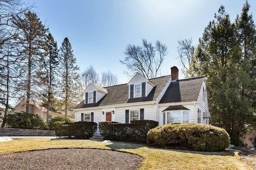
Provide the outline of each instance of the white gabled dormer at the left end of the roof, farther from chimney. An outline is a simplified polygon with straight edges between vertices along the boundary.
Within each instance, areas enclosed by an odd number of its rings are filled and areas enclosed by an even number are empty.
[[[97,103],[106,94],[108,94],[108,90],[106,88],[90,83],[85,90],[84,104]]]

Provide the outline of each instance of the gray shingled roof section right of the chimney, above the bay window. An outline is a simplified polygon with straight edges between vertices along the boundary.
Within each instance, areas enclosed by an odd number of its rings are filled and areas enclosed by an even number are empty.
[[[204,76],[171,82],[159,103],[191,102],[198,99]]]

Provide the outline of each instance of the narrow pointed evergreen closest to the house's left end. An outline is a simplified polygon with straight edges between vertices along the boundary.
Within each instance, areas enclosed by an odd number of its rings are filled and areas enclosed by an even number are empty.
[[[76,97],[77,80],[78,80],[78,66],[76,65],[76,58],[73,55],[71,44],[66,37],[60,47],[60,88],[61,98],[65,106],[65,116],[67,116],[68,109],[74,107]]]

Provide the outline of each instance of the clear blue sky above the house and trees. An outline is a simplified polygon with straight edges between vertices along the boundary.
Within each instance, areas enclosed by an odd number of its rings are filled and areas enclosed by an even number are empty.
[[[111,70],[120,83],[127,83],[125,67],[119,60],[124,49],[157,39],[168,47],[162,75],[178,66],[177,41],[192,37],[194,44],[221,4],[234,21],[244,0],[25,0],[49,27],[60,47],[68,37],[80,70],[90,64],[97,72]],[[256,1],[249,0],[254,15]],[[181,76],[181,74],[180,74]]]

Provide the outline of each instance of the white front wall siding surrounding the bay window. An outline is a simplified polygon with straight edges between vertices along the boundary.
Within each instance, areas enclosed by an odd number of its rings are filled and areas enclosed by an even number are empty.
[[[180,105],[180,104],[177,104]],[[174,105],[172,105],[174,106]],[[194,104],[182,104],[182,106],[190,109],[188,111],[188,122],[194,123],[195,122],[195,106]],[[166,109],[168,106],[159,106],[159,125],[163,125],[163,110]],[[181,117],[182,119],[182,117]]]

